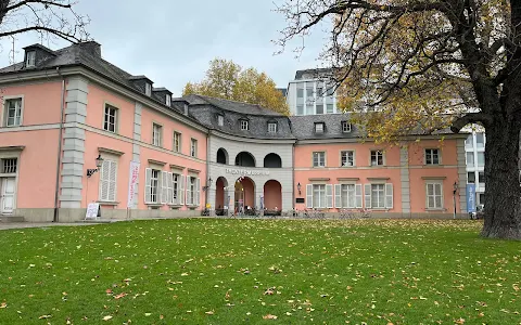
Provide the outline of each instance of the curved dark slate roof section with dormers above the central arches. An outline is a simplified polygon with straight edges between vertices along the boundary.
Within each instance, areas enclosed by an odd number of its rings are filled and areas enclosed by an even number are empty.
[[[190,103],[190,115],[209,129],[244,138],[294,139],[287,116],[258,105],[196,94],[182,99]],[[223,126],[218,125],[219,115],[224,117]],[[249,121],[249,130],[241,130],[241,120]],[[277,123],[276,133],[268,132],[269,122]]]

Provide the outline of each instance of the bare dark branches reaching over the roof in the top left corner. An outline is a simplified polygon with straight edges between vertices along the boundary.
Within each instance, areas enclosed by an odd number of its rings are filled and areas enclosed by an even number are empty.
[[[75,5],[71,0],[0,0],[0,38],[34,31],[41,39],[86,40],[90,21]]]

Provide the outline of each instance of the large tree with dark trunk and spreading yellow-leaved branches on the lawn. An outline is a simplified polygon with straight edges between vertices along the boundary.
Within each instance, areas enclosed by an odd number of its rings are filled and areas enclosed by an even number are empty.
[[[521,1],[287,0],[278,11],[288,20],[282,47],[318,26],[328,30],[321,58],[371,135],[482,125],[482,235],[521,238]]]

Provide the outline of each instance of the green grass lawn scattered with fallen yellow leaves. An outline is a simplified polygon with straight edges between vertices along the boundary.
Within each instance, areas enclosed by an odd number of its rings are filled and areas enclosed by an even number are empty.
[[[182,219],[1,231],[0,324],[521,324],[521,243],[480,229]]]

